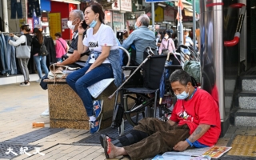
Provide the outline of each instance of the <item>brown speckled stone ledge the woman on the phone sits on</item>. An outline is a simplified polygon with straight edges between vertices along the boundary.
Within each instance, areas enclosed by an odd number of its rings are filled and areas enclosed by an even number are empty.
[[[66,84],[65,79],[45,80],[48,82],[50,109],[50,127],[89,130],[89,118],[81,98]],[[101,129],[109,127],[112,122],[114,98],[108,99],[116,90],[114,82],[98,96],[103,100]]]

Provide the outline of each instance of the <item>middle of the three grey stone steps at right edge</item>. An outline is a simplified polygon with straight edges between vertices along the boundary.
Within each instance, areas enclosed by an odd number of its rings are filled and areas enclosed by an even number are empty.
[[[256,91],[241,91],[238,102],[241,109],[256,109]]]

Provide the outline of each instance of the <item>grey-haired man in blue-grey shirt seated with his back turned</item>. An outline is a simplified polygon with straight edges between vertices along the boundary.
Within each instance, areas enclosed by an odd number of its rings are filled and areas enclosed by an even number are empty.
[[[136,55],[133,58],[133,53],[131,55],[132,61],[135,61],[135,66],[138,66],[143,61],[143,52],[147,46],[150,46],[152,50],[156,50],[156,42],[154,32],[151,31],[148,26],[150,24],[150,18],[146,14],[142,14],[138,17],[134,27],[134,30],[128,38],[122,43],[122,47],[129,50],[130,47],[135,48]]]

